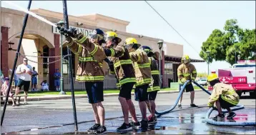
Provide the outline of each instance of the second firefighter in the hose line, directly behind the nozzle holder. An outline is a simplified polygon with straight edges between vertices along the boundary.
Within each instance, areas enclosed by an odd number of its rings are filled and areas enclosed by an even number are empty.
[[[109,65],[110,73],[117,77],[117,87],[119,88],[119,101],[122,106],[124,114],[124,124],[122,124],[117,131],[124,131],[132,129],[133,126],[139,126],[136,117],[134,104],[131,100],[131,93],[134,84],[136,83],[134,68],[132,60],[129,56],[129,51],[123,45],[119,45],[122,41],[113,31],[107,31],[104,36],[107,49],[105,54],[111,56],[111,61],[114,66]],[[129,123],[129,112],[132,116],[132,122]]]

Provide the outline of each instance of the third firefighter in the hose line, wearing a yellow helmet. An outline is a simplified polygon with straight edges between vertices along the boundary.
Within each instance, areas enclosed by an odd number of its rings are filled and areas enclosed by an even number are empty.
[[[134,64],[136,84],[135,84],[135,100],[139,101],[139,108],[142,113],[142,121],[140,122],[142,129],[147,128],[147,88],[151,83],[151,70],[147,54],[139,49],[140,44],[134,38],[128,38],[124,41],[124,46],[128,49],[129,55]]]

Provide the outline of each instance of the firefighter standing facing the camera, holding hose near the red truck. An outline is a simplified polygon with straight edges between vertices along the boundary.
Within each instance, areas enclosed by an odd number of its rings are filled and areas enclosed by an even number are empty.
[[[179,91],[182,89],[182,85],[184,84],[185,81],[189,80],[190,82],[187,83],[185,86],[186,92],[190,92],[190,106],[191,107],[197,107],[194,104],[194,98],[195,98],[195,91],[194,87],[192,85],[192,81],[195,81],[197,77],[197,70],[195,69],[195,66],[193,64],[190,64],[190,59],[188,55],[182,56],[182,64],[179,65],[177,74],[179,78]],[[183,92],[182,92],[183,96]],[[182,108],[182,96],[179,99],[179,109]]]

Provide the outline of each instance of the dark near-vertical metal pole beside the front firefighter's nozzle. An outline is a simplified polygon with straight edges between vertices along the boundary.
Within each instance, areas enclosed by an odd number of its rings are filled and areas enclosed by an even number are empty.
[[[64,16],[64,24],[65,29],[69,29],[69,17],[67,15],[67,0],[63,0],[63,16]],[[70,55],[71,52],[69,48],[67,49],[67,53]],[[71,80],[71,92],[72,92],[72,105],[73,105],[73,114],[74,114],[74,129],[78,130],[77,126],[77,109],[76,109],[76,101],[74,99],[74,82],[73,82],[73,73],[72,73],[72,56],[69,56],[69,76]]]

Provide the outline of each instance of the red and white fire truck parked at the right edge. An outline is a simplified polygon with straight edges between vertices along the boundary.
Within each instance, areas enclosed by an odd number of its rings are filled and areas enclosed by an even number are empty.
[[[217,74],[220,81],[231,84],[239,96],[250,92],[250,96],[255,98],[255,60],[237,61],[230,69],[219,69]],[[212,87],[208,87],[208,90],[212,90]]]

